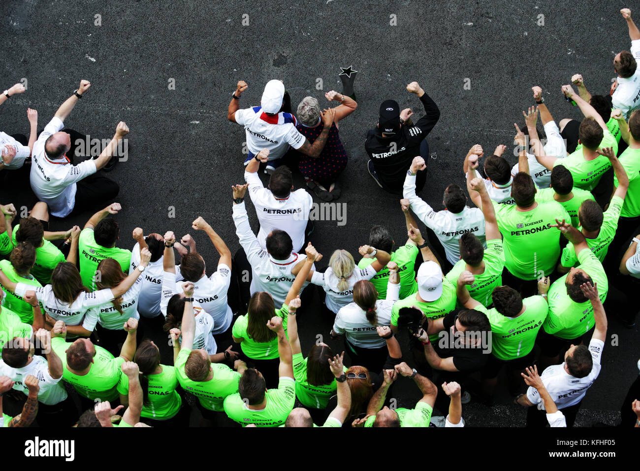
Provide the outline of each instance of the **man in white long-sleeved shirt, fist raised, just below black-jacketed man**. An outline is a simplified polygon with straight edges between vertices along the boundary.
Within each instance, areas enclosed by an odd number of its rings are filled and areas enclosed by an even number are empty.
[[[473,233],[486,248],[484,236],[484,215],[479,208],[468,208],[467,197],[462,188],[452,183],[444,191],[445,211],[434,211],[429,204],[415,194],[415,176],[419,170],[426,169],[424,158],[417,156],[404,179],[403,197],[408,199],[411,210],[429,229],[439,243],[429,238],[431,249],[438,256],[442,272],[447,273],[460,260],[458,239],[464,233]]]

